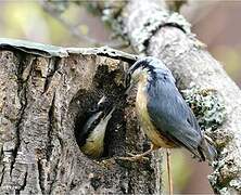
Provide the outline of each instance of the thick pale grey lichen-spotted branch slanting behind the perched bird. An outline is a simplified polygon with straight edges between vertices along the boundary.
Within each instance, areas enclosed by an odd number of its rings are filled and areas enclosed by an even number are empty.
[[[164,0],[131,0],[120,8],[110,1],[96,8],[102,10],[109,22],[113,21],[113,27],[118,25],[114,30],[125,29],[117,34],[129,39],[136,51],[163,60],[180,89],[194,83],[217,91],[224,101],[227,120],[210,133],[218,148],[218,160],[213,164],[210,181],[216,193],[240,194],[241,91],[190,32],[190,24],[177,13],[169,13]],[[107,15],[106,9],[112,10]]]

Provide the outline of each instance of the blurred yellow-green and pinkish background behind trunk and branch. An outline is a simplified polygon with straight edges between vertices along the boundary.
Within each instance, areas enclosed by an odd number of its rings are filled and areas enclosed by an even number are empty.
[[[0,37],[27,39],[63,47],[93,47],[93,42],[110,43],[112,34],[76,3],[56,5],[52,15],[38,1],[0,1]],[[230,77],[241,84],[241,2],[189,1],[181,13],[192,24],[192,30],[207,50],[224,65]],[[60,16],[61,13],[61,16]],[[211,194],[206,176],[211,168],[196,162],[190,154],[174,150],[173,178],[176,193]],[[165,164],[163,165],[165,168]],[[166,173],[166,171],[164,171]],[[166,174],[165,174],[165,178]]]

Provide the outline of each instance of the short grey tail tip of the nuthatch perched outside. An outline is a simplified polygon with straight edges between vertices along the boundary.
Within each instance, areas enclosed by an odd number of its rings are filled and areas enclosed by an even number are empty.
[[[215,160],[217,157],[217,151],[215,146],[206,139],[203,139],[202,143],[200,144],[199,153],[202,156],[203,160],[207,159],[210,162]]]

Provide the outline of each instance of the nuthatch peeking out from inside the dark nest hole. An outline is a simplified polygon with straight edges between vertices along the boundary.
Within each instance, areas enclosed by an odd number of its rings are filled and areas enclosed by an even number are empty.
[[[106,96],[103,95],[90,112],[90,116],[78,134],[80,151],[88,157],[100,158],[103,155],[104,136],[114,110],[115,106],[110,105]]]

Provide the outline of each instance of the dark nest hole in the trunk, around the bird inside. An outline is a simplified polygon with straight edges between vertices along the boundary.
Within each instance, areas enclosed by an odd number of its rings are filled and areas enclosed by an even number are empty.
[[[111,106],[115,106],[105,131],[104,152],[98,158],[124,154],[125,119],[123,110],[126,105],[126,96],[123,84],[115,82],[115,77],[119,75],[118,72],[120,70],[109,72],[107,66],[99,66],[92,81],[92,88],[90,90],[80,89],[69,104],[69,113],[74,120],[74,135],[79,148],[88,136],[88,133],[85,134],[84,132],[84,126],[92,116],[100,99],[104,95]],[[88,157],[92,158],[91,156]]]

